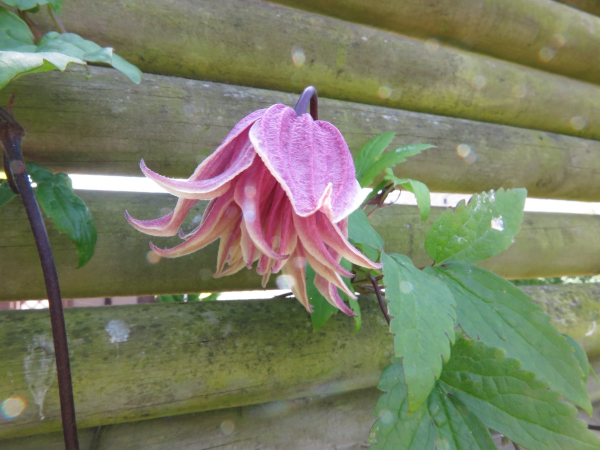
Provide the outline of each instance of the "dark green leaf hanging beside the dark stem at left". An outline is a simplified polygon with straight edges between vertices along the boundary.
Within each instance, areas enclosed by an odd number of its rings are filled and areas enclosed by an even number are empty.
[[[65,173],[53,174],[46,167],[27,163],[31,179],[37,183],[35,196],[56,229],[65,233],[77,249],[77,268],[94,256],[98,233],[94,219],[83,200],[73,192],[71,179]]]

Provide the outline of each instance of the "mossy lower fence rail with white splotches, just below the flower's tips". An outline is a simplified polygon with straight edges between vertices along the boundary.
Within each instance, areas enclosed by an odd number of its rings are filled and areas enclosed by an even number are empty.
[[[524,288],[590,354],[600,351],[597,333],[588,332],[598,319],[599,289]],[[577,323],[554,317],[567,302]],[[79,427],[376,386],[391,337],[374,296],[361,296],[361,309],[354,334],[343,314],[313,332],[294,299],[68,308]],[[46,310],[1,311],[1,395],[27,401],[19,418],[0,422],[1,438],[59,430],[50,342]]]

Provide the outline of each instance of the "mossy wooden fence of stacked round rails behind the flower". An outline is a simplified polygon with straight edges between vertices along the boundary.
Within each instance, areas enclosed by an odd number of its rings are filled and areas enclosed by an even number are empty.
[[[312,84],[320,118],[340,128],[353,153],[389,130],[395,145],[436,145],[397,168],[432,191],[526,187],[532,197],[599,202],[593,7],[73,0],[61,16],[65,27],[116,47],[145,72],[142,84],[89,67],[30,74],[0,94],[5,103],[16,92],[26,158],[69,173],[140,175],[143,157],[159,173],[186,177],[247,113],[293,104]],[[459,145],[471,157],[461,157]],[[174,205],[172,196],[82,197],[98,227],[89,265],[76,270],[71,243],[50,227],[65,298],[260,286],[253,271],[212,278],[214,246],[146,259],[148,236],[122,212],[152,218]],[[415,208],[390,206],[373,225],[386,249],[425,265],[421,242],[440,212],[423,226]],[[510,278],[598,274],[598,229],[597,215],[527,213],[515,244],[482,266]],[[0,286],[0,301],[45,296],[17,202],[0,209]],[[600,285],[524,290],[590,357],[600,356]],[[376,302],[361,296],[361,308],[358,334],[341,315],[313,333],[289,299],[67,310],[82,448],[359,448],[391,355]],[[50,336],[47,311],[0,311],[0,401],[27,403],[18,418],[0,422],[0,448],[61,448]]]

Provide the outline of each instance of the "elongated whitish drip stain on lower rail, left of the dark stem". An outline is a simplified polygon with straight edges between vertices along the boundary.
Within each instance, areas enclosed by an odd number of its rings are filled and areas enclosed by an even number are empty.
[[[25,381],[34,403],[40,409],[40,420],[44,420],[44,398],[56,377],[56,363],[52,338],[45,334],[35,335],[27,346],[27,355],[23,359]]]

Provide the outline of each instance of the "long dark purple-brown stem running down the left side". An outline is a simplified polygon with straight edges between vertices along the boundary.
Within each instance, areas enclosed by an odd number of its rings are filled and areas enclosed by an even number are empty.
[[[4,167],[8,169],[6,176],[11,187],[16,188],[23,200],[23,206],[25,206],[25,212],[27,213],[31,231],[34,234],[35,245],[40,256],[44,283],[46,283],[65,448],[67,450],[79,450],[61,290],[58,285],[58,275],[56,274],[56,266],[52,256],[52,249],[50,248],[48,233],[41,217],[40,206],[35,199],[33,188],[29,182],[25,161],[23,161],[21,139],[25,136],[25,130],[23,130],[23,127],[14,119],[11,113],[12,103],[13,97],[11,97],[8,103],[8,110],[0,107],[0,141],[4,145]]]

